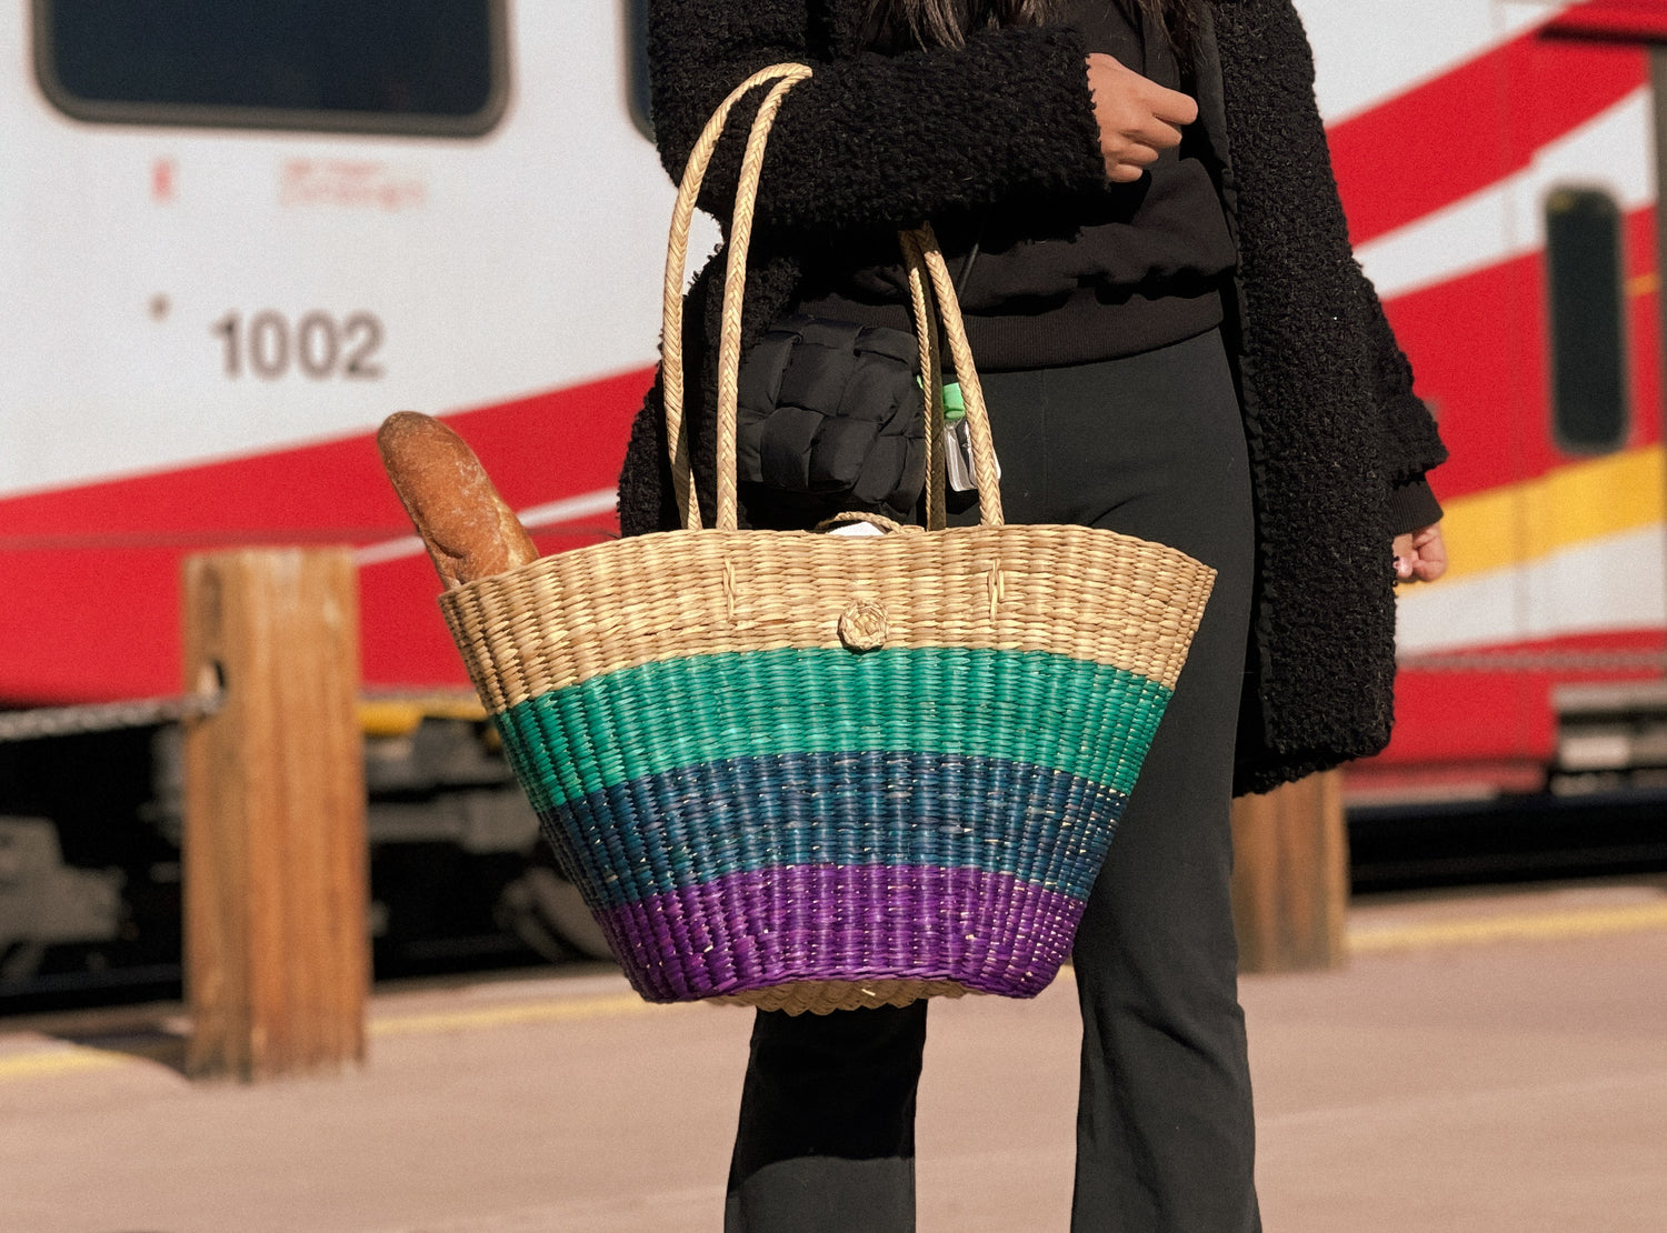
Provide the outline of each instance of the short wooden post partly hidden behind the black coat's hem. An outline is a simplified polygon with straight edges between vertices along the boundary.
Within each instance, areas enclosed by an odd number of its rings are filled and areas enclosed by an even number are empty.
[[[1242,971],[1342,966],[1347,911],[1340,771],[1234,801],[1234,923]]]

